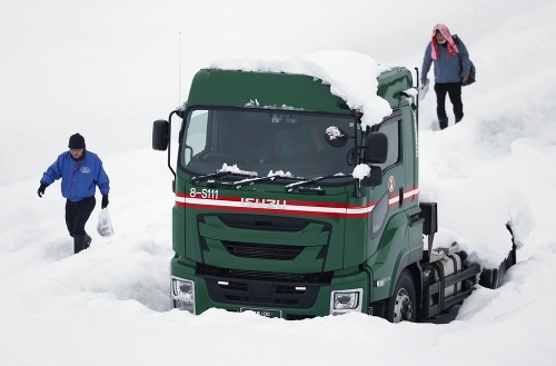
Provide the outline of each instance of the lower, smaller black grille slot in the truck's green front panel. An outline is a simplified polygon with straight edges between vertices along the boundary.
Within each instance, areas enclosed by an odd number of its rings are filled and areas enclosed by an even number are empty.
[[[236,257],[257,259],[290,260],[295,259],[304,250],[304,247],[284,245],[238,241],[222,241],[222,244]]]

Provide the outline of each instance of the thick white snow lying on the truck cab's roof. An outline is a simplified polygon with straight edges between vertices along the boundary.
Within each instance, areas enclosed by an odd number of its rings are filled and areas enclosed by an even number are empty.
[[[378,76],[389,68],[371,57],[353,51],[320,51],[299,57],[231,57],[210,65],[212,69],[306,75],[330,85],[330,92],[364,116],[361,125],[377,125],[391,115],[385,99],[377,96]]]

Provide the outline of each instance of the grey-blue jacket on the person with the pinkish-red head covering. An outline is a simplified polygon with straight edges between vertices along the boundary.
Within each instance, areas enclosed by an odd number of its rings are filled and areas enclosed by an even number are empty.
[[[425,58],[423,59],[421,69],[421,81],[427,79],[427,73],[430,70],[430,65],[435,65],[435,82],[461,82],[461,75],[468,76],[471,69],[471,63],[469,61],[469,53],[464,42],[459,40],[457,49],[459,55],[449,56],[448,48],[438,44],[438,60],[433,60],[430,56],[431,42],[428,42],[427,49],[425,51]],[[459,63],[459,58],[461,58],[461,66]]]

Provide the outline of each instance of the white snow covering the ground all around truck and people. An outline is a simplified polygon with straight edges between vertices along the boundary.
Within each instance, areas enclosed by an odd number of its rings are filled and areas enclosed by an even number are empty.
[[[0,2],[0,365],[554,365],[555,16],[552,0]],[[446,130],[433,90],[420,103],[421,199],[438,201],[439,241],[487,264],[512,222],[505,284],[477,287],[449,324],[170,310],[173,195],[151,128],[193,73],[325,50],[420,68],[437,22],[478,81]],[[91,248],[72,255],[59,182],[37,188],[78,131],[110,177],[116,235],[97,235],[98,205]]]

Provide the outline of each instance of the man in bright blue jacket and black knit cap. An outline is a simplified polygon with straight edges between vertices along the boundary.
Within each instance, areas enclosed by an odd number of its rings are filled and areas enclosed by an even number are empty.
[[[44,172],[37,194],[42,197],[48,186],[54,180],[62,179],[62,196],[67,199],[66,225],[69,235],[73,238],[73,251],[78,254],[91,244],[91,237],[85,231],[85,225],[97,204],[96,186],[102,194],[101,208],[106,208],[110,180],[99,157],[86,150],[85,138],[81,135],[72,135],[68,147],[69,151],[60,154]]]

